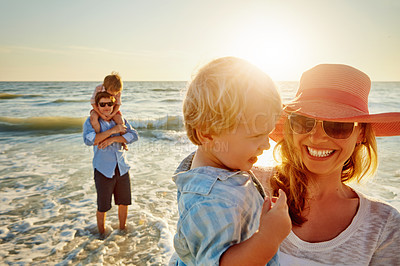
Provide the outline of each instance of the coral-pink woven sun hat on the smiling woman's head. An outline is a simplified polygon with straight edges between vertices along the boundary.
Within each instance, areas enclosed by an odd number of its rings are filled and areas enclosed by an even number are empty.
[[[304,72],[296,97],[284,104],[284,112],[270,134],[283,138],[283,125],[291,112],[319,120],[371,123],[377,137],[400,135],[400,112],[370,114],[371,80],[358,69],[340,64],[321,64]]]

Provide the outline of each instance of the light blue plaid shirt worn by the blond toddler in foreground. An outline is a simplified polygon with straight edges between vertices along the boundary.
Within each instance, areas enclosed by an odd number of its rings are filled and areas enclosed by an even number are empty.
[[[173,256],[170,265],[219,265],[230,246],[258,230],[264,200],[249,172],[208,166],[188,170],[188,158],[173,177],[178,188],[174,247],[179,258]],[[268,265],[279,265],[277,255]]]

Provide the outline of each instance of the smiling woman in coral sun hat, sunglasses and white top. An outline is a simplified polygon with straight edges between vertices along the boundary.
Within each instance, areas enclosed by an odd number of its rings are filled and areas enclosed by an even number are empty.
[[[288,195],[293,224],[281,265],[400,265],[399,212],[346,185],[375,173],[375,136],[400,135],[400,113],[369,114],[370,86],[353,67],[318,65],[270,135],[280,164],[268,186]]]

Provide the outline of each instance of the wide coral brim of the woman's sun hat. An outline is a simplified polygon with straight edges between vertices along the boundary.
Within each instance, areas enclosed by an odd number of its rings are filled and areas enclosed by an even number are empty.
[[[271,132],[270,138],[276,142],[283,138],[283,128],[291,112],[313,117],[318,120],[337,122],[370,123],[377,137],[400,135],[400,113],[368,114],[344,104],[322,103],[320,101],[291,102],[284,105],[284,112]]]

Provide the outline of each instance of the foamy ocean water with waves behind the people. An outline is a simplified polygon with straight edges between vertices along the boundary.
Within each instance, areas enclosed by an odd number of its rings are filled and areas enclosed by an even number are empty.
[[[82,124],[100,82],[0,82],[0,264],[165,265],[178,217],[171,176],[195,150],[182,125],[186,82],[124,82],[121,111],[138,130],[129,145],[133,204],[127,230],[117,208],[107,237],[96,226],[92,147]],[[291,99],[297,82],[277,82]],[[400,111],[400,82],[373,82],[371,113]],[[379,168],[367,195],[400,210],[400,137],[377,138]],[[258,164],[271,165],[271,152]]]

